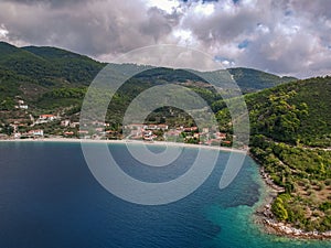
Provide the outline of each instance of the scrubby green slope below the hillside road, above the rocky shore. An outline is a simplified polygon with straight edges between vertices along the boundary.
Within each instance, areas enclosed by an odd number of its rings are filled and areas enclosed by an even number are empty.
[[[253,139],[250,152],[275,184],[285,188],[271,211],[305,230],[331,229],[331,151]]]

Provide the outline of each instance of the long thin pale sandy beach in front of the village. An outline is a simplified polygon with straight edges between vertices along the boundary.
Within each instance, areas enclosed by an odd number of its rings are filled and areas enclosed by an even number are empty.
[[[225,152],[238,152],[248,154],[248,150],[226,148],[226,147],[214,147],[205,144],[193,144],[193,143],[180,143],[169,141],[143,141],[143,140],[93,140],[93,139],[76,139],[76,138],[39,138],[39,139],[7,139],[0,140],[0,142],[72,142],[72,143],[131,143],[131,144],[147,144],[147,145],[169,145],[169,147],[182,147],[182,148],[199,148],[217,150]]]

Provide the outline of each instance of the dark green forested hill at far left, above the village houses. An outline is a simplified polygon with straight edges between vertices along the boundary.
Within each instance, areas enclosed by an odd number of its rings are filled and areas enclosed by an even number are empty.
[[[89,85],[105,66],[86,56],[54,47],[18,48],[0,42],[0,111],[14,110],[18,99],[29,104],[32,112],[54,111],[54,107],[79,104],[76,96],[50,96],[53,90],[72,91]],[[50,103],[43,103],[49,97]],[[53,103],[51,103],[53,101]],[[56,101],[56,103],[55,103]]]

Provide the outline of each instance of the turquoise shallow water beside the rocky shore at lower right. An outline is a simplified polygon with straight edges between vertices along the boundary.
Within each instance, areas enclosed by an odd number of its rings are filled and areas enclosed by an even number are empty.
[[[205,247],[270,247],[270,248],[321,248],[331,247],[328,240],[305,240],[264,233],[263,227],[254,223],[254,214],[257,206],[263,204],[263,195],[266,193],[266,185],[263,183],[258,173],[258,164],[254,161],[249,171],[254,182],[259,184],[260,197],[255,205],[239,205],[236,207],[224,208],[212,205],[205,208],[205,216],[215,225],[223,227],[222,231],[204,244]]]

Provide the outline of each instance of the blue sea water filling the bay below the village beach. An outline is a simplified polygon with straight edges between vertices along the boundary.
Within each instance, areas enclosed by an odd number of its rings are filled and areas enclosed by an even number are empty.
[[[98,144],[92,144],[98,145]],[[122,170],[167,181],[189,170],[195,149],[162,170],[142,166],[122,144],[110,150]],[[104,190],[78,143],[0,142],[0,248],[106,247],[331,247],[260,233],[253,224],[263,191],[250,158],[235,181],[218,188],[228,153],[193,194],[175,203],[142,206]]]

